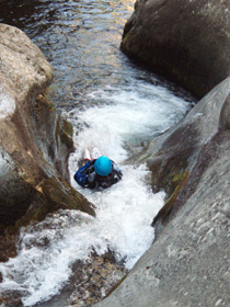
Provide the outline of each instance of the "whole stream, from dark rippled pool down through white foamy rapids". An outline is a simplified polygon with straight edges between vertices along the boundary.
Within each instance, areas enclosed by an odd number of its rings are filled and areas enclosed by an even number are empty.
[[[94,147],[124,173],[120,182],[97,193],[71,182],[96,206],[96,218],[60,211],[22,229],[19,255],[0,264],[0,272],[2,288],[21,292],[24,306],[57,294],[71,275],[71,264],[87,259],[92,248],[100,254],[110,248],[131,269],[154,238],[150,225],[164,192],[153,194],[147,167],[127,164],[126,159],[180,121],[191,99],[119,52],[134,2],[1,2],[0,22],[27,33],[54,67],[51,99],[76,129],[71,178],[84,149]]]

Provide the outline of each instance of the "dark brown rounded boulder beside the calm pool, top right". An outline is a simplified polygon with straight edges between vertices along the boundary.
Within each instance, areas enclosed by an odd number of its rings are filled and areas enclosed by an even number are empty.
[[[122,50],[203,98],[230,73],[229,0],[138,0]]]

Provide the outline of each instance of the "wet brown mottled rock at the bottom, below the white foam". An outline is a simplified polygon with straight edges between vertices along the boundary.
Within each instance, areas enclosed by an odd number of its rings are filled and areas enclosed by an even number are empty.
[[[102,300],[126,276],[128,271],[116,263],[112,252],[92,253],[85,261],[77,261],[69,284],[60,295],[36,307],[90,307]],[[8,306],[5,306],[8,307]]]

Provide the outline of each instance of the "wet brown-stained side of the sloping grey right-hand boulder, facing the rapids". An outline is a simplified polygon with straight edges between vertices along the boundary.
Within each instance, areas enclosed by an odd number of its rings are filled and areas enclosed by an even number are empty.
[[[147,152],[151,157],[147,162],[153,170],[153,189],[164,189],[169,197],[176,194],[171,200],[171,209],[162,215],[162,208],[156,216],[156,231],[186,203],[196,191],[203,173],[218,159],[223,132],[228,132],[222,124],[220,128],[220,123],[228,114],[229,92],[230,78],[227,78],[200,100],[177,126],[150,144]],[[156,154],[152,155],[153,148]],[[154,156],[158,157],[158,170]]]

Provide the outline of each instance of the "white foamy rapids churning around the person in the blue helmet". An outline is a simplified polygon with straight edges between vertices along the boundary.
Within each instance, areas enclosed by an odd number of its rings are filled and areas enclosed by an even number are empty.
[[[161,87],[106,88],[90,93],[92,107],[71,112],[81,127],[74,136],[77,151],[70,157],[71,178],[85,148],[97,147],[123,170],[123,180],[102,192],[72,185],[96,208],[96,218],[74,211],[60,211],[45,221],[22,229],[19,255],[0,264],[2,288],[25,292],[24,306],[47,300],[71,275],[71,264],[112,250],[117,261],[131,269],[154,239],[153,217],[162,207],[164,192],[153,194],[145,164],[126,163],[124,145],[141,143],[169,128],[186,112],[188,104]]]

